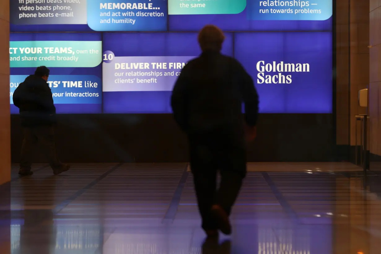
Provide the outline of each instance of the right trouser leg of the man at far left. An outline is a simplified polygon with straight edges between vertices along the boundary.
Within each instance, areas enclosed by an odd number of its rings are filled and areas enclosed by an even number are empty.
[[[56,151],[56,139],[53,126],[39,126],[35,131],[38,142],[42,145],[48,157],[49,164],[52,169],[62,167],[62,162],[59,161]]]

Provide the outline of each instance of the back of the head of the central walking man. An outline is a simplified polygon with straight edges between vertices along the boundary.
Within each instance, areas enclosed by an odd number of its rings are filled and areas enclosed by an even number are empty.
[[[206,25],[200,30],[198,40],[202,51],[220,51],[225,35],[218,27]]]

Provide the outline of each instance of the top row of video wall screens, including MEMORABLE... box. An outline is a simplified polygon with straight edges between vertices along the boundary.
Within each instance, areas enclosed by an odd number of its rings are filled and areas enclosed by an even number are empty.
[[[11,0],[11,32],[330,30],[332,0]]]

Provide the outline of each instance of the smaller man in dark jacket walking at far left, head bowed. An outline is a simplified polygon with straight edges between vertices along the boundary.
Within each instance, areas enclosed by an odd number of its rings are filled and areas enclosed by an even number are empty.
[[[45,66],[37,67],[34,75],[28,76],[13,93],[13,104],[20,110],[21,125],[24,128],[19,171],[23,176],[33,174],[31,165],[37,141],[46,149],[54,174],[69,169],[68,165],[58,160],[56,154],[56,107],[47,83],[49,72]]]

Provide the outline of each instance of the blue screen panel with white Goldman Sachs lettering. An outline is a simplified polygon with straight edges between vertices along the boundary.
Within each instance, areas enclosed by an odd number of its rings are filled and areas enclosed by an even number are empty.
[[[234,55],[261,113],[332,113],[331,32],[237,33]]]

